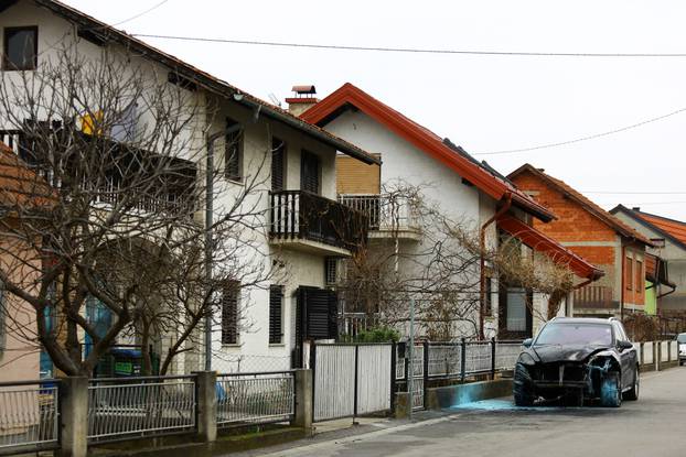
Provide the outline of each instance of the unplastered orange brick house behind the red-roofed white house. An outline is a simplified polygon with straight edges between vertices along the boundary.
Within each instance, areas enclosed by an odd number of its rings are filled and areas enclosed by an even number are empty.
[[[653,247],[647,237],[544,170],[524,164],[508,178],[558,217],[549,224],[534,219],[534,228],[605,272],[575,292],[576,316],[644,311],[645,254]]]

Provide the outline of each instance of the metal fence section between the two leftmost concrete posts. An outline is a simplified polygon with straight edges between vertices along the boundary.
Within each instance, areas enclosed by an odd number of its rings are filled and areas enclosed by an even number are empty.
[[[90,380],[88,440],[109,442],[195,428],[196,377]]]

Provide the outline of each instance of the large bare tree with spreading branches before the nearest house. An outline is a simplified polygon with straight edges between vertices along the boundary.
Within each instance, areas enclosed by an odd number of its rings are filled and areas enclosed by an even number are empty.
[[[139,56],[86,58],[75,46],[0,81],[0,126],[20,171],[1,202],[0,280],[34,314],[34,325],[12,331],[66,374],[90,374],[122,337],[141,344],[144,372],[148,345],[163,337],[167,372],[176,356],[199,350],[199,330],[205,316],[221,315],[223,294],[270,274],[246,236],[264,229],[258,191],[269,151],[227,192],[218,170],[203,168],[217,107],[170,81]],[[200,213],[208,186],[229,195],[216,209],[210,250]],[[111,318],[90,318],[98,309]]]

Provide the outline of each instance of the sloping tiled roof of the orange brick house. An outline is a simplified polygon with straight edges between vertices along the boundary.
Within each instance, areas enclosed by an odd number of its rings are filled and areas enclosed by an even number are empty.
[[[618,219],[617,217],[612,216],[610,213],[602,209],[600,206],[598,206],[596,203],[587,198],[580,192],[576,191],[569,184],[565,183],[561,179],[550,176],[549,174],[545,173],[544,171],[539,168],[536,168],[534,165],[529,163],[525,163],[524,165],[519,166],[517,170],[510,173],[507,177],[511,179],[514,179],[516,176],[523,173],[527,173],[527,172],[533,174],[534,176],[539,177],[540,179],[549,184],[553,188],[557,189],[558,192],[567,196],[568,198],[578,203],[589,214],[600,219],[603,224],[605,224],[608,227],[617,231],[619,235],[625,238],[630,238],[632,240],[639,241],[646,246],[651,246],[651,247],[653,246],[653,242],[649,238],[644,237],[643,235],[634,230],[629,225],[622,222],[620,219]]]

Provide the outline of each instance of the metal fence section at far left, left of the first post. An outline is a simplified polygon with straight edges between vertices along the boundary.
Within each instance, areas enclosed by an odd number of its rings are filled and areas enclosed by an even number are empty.
[[[0,383],[0,453],[58,445],[58,381]]]

